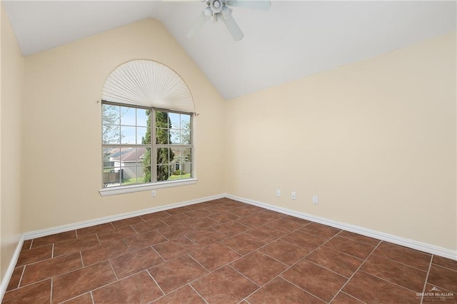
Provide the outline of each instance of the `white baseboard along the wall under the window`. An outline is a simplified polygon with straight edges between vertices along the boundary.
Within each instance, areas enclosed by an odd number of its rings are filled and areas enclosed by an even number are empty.
[[[96,218],[94,220],[83,221],[83,222],[79,222],[79,223],[72,223],[69,225],[63,225],[63,226],[57,226],[57,227],[53,227],[53,228],[30,231],[30,232],[24,233],[24,240],[31,240],[32,238],[40,238],[41,236],[51,235],[51,234],[55,234],[55,233],[62,233],[62,232],[69,231],[69,230],[86,228],[86,227],[109,223],[109,222],[113,222],[113,221],[124,220],[124,218],[131,218],[134,216],[143,216],[144,214],[147,214],[147,213],[166,211],[166,210],[173,209],[173,208],[194,205],[196,203],[203,203],[205,201],[216,200],[218,198],[224,198],[224,197],[226,197],[224,194],[219,194],[217,196],[206,196],[204,198],[197,198],[195,200],[184,201],[181,203],[172,203],[169,205],[152,207],[152,208],[142,209],[139,211],[116,214],[115,216],[105,216],[104,218]]]

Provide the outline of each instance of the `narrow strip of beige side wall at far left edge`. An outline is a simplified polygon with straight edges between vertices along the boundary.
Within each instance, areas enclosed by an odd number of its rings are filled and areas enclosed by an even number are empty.
[[[0,209],[3,280],[21,238],[21,94],[24,58],[1,7]]]

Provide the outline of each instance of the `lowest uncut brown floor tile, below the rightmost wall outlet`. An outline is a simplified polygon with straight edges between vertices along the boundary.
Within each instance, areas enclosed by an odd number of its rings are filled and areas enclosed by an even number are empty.
[[[347,281],[343,276],[307,260],[301,260],[293,265],[281,275],[281,278],[326,302],[330,301]]]

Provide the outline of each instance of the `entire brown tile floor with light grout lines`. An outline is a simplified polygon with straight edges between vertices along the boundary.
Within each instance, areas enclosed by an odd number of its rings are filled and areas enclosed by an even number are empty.
[[[3,303],[433,300],[456,260],[223,198],[27,240]]]

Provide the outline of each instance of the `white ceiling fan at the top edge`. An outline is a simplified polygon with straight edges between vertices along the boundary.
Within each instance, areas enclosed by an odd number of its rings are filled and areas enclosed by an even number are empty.
[[[200,31],[201,27],[209,19],[216,21],[223,21],[229,30],[231,36],[234,40],[238,41],[243,39],[244,34],[236,24],[235,19],[231,16],[232,9],[229,6],[241,6],[248,9],[260,9],[262,11],[267,11],[270,9],[270,1],[243,1],[243,0],[201,0],[206,2],[206,8],[201,12],[199,19],[196,21],[194,26],[191,27],[191,30],[187,34],[189,38],[196,36]]]

